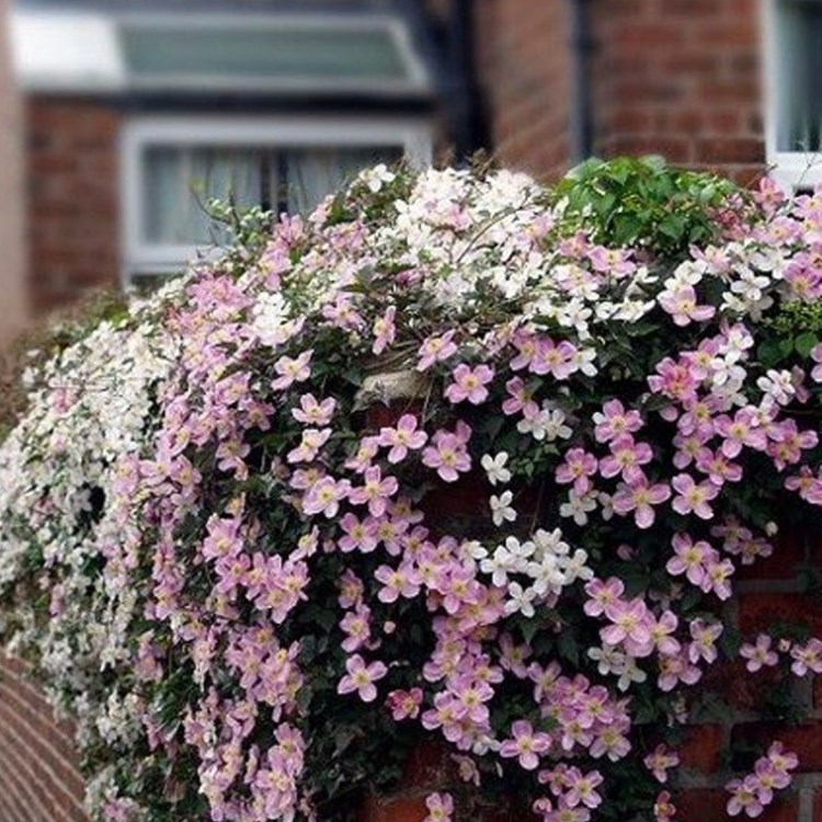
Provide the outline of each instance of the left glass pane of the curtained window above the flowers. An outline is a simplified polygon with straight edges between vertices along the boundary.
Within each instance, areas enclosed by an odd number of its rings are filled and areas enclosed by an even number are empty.
[[[146,240],[170,246],[220,241],[206,213],[209,199],[238,207],[269,196],[267,152],[248,148],[155,146],[146,150],[142,208]]]

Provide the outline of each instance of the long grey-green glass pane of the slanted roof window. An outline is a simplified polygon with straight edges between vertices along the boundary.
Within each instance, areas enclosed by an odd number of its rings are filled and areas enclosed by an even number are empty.
[[[402,80],[407,70],[385,28],[204,27],[125,24],[126,66],[138,80],[250,78]]]

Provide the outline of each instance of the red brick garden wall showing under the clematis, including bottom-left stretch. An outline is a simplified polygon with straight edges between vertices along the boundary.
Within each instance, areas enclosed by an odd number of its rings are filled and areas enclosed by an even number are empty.
[[[822,596],[803,593],[797,570],[819,563],[815,535],[786,534],[772,559],[755,572],[741,573],[738,596],[728,606],[744,639],[767,630],[775,620],[806,623],[822,636]],[[68,723],[57,723],[43,698],[24,680],[20,663],[0,657],[0,820],[2,822],[87,822],[82,812],[82,780],[76,769]],[[710,670],[698,686],[724,693],[742,708],[695,724],[678,749],[682,767],[673,788],[682,822],[727,822],[730,777],[726,769],[729,743],[755,743],[763,749],[780,740],[799,755],[794,785],[760,817],[761,822],[820,822],[822,820],[822,677],[796,681],[794,697],[808,709],[802,724],[768,723],[750,709],[768,674],[747,674],[740,663]],[[456,785],[447,751],[432,745],[412,757],[404,780],[390,796],[373,797],[364,806],[362,822],[422,822],[425,797],[432,790]],[[464,789],[460,789],[460,792]],[[506,804],[473,808],[476,822],[527,822],[530,817]]]

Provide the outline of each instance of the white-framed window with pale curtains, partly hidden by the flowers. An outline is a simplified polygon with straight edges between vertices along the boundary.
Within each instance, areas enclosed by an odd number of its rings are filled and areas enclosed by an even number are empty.
[[[430,161],[419,121],[146,118],[124,137],[124,277],[180,271],[224,238],[205,204],[306,213],[361,169]]]

